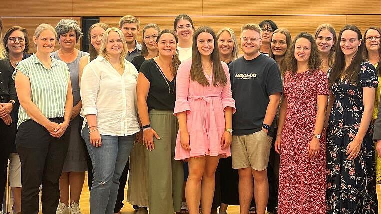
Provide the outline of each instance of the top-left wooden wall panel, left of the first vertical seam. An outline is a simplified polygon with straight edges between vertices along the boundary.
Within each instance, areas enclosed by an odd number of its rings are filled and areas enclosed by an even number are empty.
[[[73,0],[0,0],[0,16],[73,16]]]

